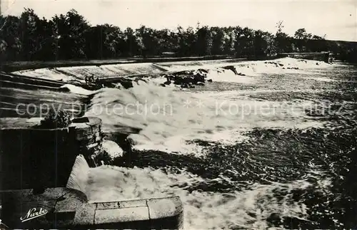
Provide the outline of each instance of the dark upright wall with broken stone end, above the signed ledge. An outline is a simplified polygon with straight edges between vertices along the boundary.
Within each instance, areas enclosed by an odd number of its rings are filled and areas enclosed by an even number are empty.
[[[1,130],[0,189],[65,187],[77,155],[96,167],[102,151],[101,120],[84,117],[67,128]]]

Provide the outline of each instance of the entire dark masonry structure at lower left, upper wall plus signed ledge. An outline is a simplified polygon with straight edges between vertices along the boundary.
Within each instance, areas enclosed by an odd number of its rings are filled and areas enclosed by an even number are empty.
[[[1,131],[0,219],[10,229],[182,228],[179,197],[87,199],[89,170],[102,154],[99,118],[81,117],[64,129]]]

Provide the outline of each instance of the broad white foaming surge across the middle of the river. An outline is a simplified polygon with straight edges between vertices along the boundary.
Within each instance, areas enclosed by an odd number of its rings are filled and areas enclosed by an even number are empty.
[[[257,101],[236,91],[192,93],[141,82],[129,90],[99,90],[85,115],[101,118],[104,132],[120,131],[122,126],[141,129],[131,135],[140,150],[200,154],[186,141],[233,143],[244,140],[244,132],[253,127],[320,125],[305,115],[312,106],[303,100]]]

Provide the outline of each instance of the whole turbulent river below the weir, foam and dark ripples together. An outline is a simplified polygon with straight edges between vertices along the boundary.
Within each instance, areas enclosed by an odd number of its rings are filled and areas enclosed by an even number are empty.
[[[212,69],[189,90],[154,79],[97,91],[86,115],[104,132],[141,129],[134,167],[81,166],[85,185],[71,186],[91,202],[178,195],[185,229],[356,227],[357,69],[288,62],[300,68],[237,64],[245,76]],[[162,66],[188,67],[202,68]]]

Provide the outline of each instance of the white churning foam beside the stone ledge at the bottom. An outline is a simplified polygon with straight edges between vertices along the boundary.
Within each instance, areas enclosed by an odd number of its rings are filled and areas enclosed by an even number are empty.
[[[293,202],[288,196],[276,199],[272,195],[274,192],[289,194],[293,189],[310,187],[306,180],[288,184],[253,184],[247,190],[228,193],[188,192],[186,189],[212,180],[229,179],[203,179],[184,171],[171,174],[150,167],[128,169],[102,166],[90,169],[87,196],[89,202],[109,202],[178,195],[183,202],[185,229],[266,229],[266,219],[271,213],[306,218],[307,209],[303,204]]]

